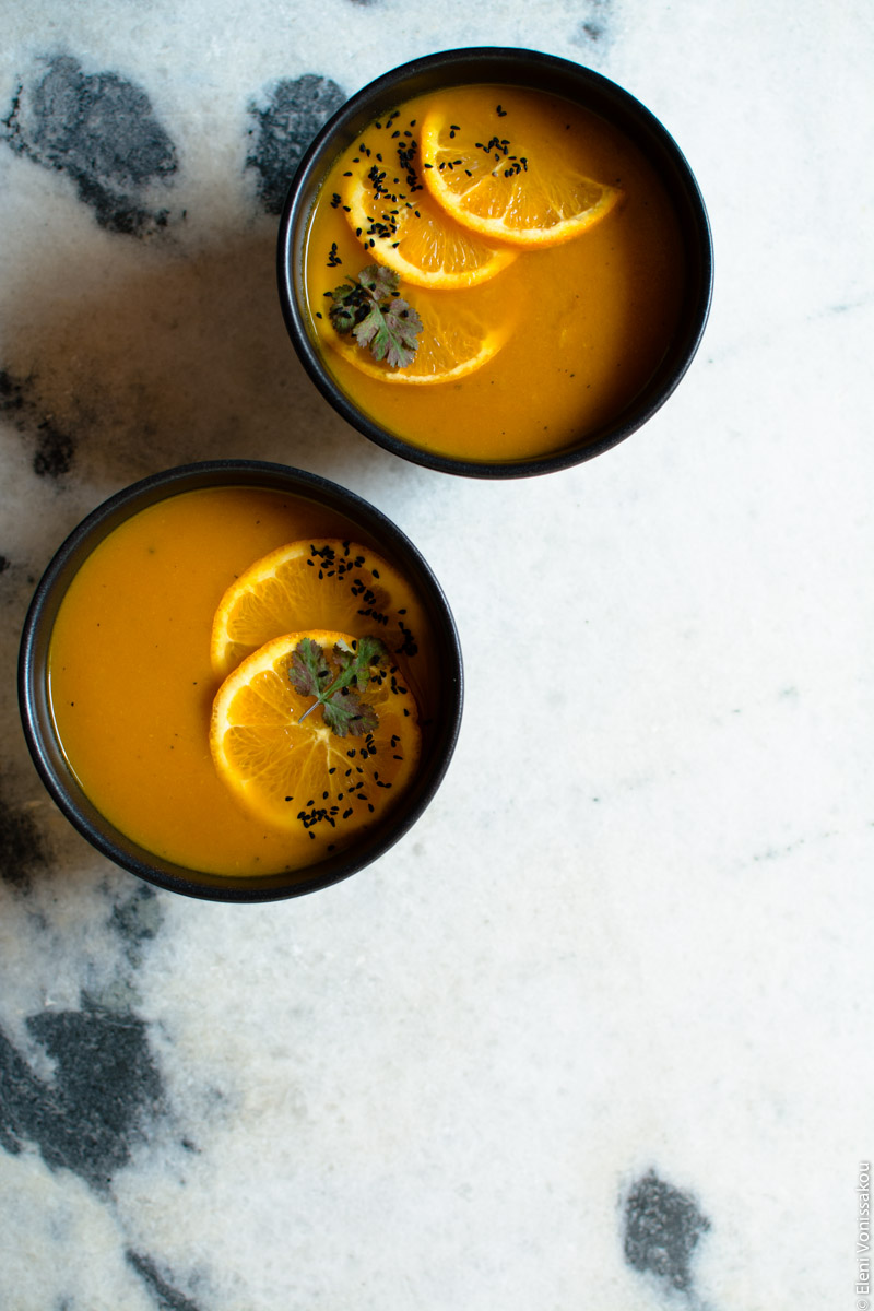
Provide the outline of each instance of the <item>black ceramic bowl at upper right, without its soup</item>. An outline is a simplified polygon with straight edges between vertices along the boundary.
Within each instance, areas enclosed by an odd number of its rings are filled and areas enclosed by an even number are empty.
[[[679,323],[643,389],[596,430],[549,455],[506,461],[457,459],[404,440],[363,413],[326,367],[305,309],[304,253],[320,184],[333,161],[363,130],[413,96],[442,88],[493,84],[545,90],[588,109],[613,125],[654,165],[676,214],[685,267]],[[325,125],[300,161],[279,227],[279,296],[294,346],[330,404],[371,440],[396,455],[446,473],[524,477],[569,468],[629,437],[664,404],[701,341],[710,308],[713,248],[701,193],[676,143],[654,115],[615,83],[565,59],[529,50],[449,50],[404,64],[351,97]],[[338,282],[342,278],[338,277]],[[532,382],[532,385],[536,380]]]

